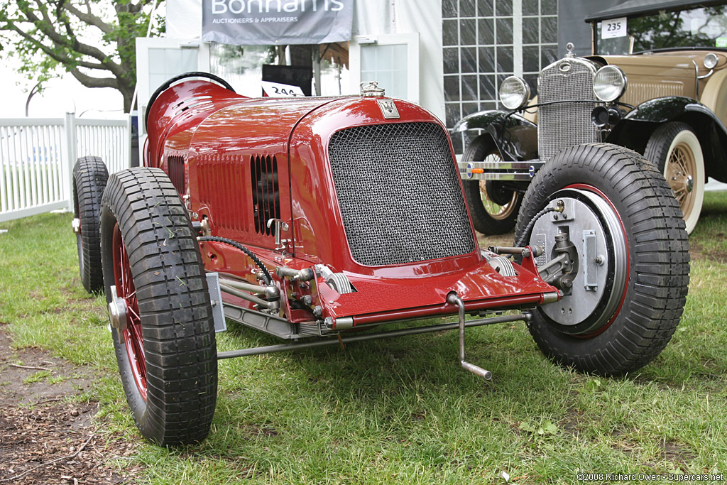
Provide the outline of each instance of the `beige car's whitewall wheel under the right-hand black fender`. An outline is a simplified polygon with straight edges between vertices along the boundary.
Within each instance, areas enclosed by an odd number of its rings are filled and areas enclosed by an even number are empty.
[[[654,130],[643,156],[664,174],[684,214],[691,234],[704,201],[704,154],[694,130],[680,121],[664,123]]]

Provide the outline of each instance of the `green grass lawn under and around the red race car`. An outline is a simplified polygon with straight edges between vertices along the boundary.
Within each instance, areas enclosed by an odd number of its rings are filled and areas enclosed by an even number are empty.
[[[78,275],[71,215],[0,224],[0,321],[100,378],[106,427],[142,441],[116,375],[103,297]],[[197,446],[142,444],[152,484],[572,484],[576,473],[721,473],[727,464],[727,193],[694,231],[684,316],[638,374],[551,364],[522,324],[220,361],[217,412]],[[230,324],[220,350],[276,342]],[[627,483],[627,482],[622,482]],[[705,483],[705,482],[702,482]]]

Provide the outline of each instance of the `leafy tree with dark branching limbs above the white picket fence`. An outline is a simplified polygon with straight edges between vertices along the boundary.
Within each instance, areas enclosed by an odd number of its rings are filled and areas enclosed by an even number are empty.
[[[158,3],[163,3],[159,0]],[[146,36],[154,0],[0,0],[0,55],[42,84],[65,69],[86,87],[112,87],[132,108],[136,39]],[[164,31],[155,15],[153,35]]]

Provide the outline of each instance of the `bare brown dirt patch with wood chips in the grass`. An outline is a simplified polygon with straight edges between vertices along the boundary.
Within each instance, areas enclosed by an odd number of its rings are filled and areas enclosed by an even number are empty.
[[[136,444],[92,420],[96,403],[67,402],[94,373],[39,348],[12,348],[0,322],[0,484],[135,484],[120,472]]]

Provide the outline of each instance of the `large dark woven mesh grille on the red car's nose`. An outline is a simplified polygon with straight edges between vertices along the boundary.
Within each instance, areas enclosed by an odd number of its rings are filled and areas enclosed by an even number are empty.
[[[329,158],[348,245],[362,265],[475,249],[459,174],[437,124],[343,129],[331,137]]]

